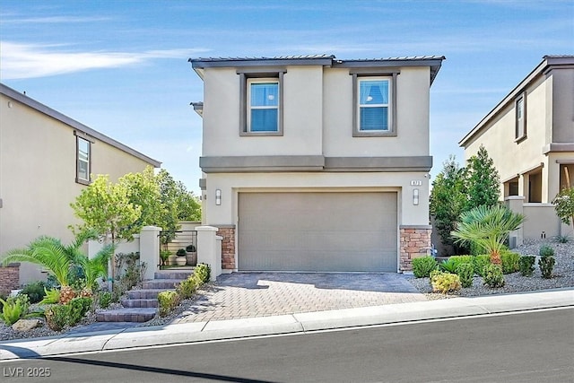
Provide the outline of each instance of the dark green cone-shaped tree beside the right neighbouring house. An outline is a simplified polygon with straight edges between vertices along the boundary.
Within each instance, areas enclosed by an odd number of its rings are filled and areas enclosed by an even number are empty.
[[[500,196],[500,176],[494,161],[483,145],[468,159],[466,165],[465,211],[480,205],[497,205]]]

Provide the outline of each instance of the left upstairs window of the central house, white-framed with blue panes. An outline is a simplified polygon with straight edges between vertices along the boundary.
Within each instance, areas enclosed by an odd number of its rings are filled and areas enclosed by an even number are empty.
[[[279,131],[279,81],[248,80],[248,132]]]

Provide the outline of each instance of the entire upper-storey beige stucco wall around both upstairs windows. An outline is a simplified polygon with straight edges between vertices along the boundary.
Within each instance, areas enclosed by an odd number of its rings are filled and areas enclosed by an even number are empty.
[[[234,68],[209,68],[204,72],[203,156],[429,155],[429,88],[429,67],[401,68],[396,86],[398,135],[352,137],[349,69],[287,66],[283,136],[240,136],[239,75]]]

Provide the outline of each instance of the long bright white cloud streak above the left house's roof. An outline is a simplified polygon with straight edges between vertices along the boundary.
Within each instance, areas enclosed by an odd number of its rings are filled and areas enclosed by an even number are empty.
[[[144,52],[73,52],[2,41],[0,77],[4,80],[70,74],[91,69],[137,65],[156,58],[185,59],[206,49],[164,49]]]

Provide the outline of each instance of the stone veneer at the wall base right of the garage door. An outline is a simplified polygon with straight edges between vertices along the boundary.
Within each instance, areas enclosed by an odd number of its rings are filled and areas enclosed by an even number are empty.
[[[432,226],[401,225],[401,261],[400,271],[412,271],[413,259],[424,257],[431,251]]]

